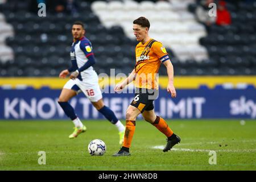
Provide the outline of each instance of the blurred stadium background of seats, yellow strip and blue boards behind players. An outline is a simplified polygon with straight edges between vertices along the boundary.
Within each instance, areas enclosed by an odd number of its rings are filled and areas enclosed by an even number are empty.
[[[46,3],[39,17],[38,3]],[[226,1],[231,23],[204,22],[201,4],[218,1],[15,1],[0,4],[0,118],[67,119],[56,104],[71,65],[75,20],[85,23],[97,73],[128,75],[134,67],[132,22],[143,15],[150,36],[166,46],[175,71],[177,98],[165,89],[162,65],[156,112],[166,118],[256,118],[256,2]],[[209,11],[209,9],[207,9]],[[207,15],[205,15],[207,16]],[[112,75],[114,77],[114,75]],[[112,78],[113,78],[112,77]],[[102,83],[101,83],[102,86]],[[110,90],[113,90],[113,85]],[[104,94],[118,117],[133,94]],[[82,94],[73,106],[84,119],[102,118]]]

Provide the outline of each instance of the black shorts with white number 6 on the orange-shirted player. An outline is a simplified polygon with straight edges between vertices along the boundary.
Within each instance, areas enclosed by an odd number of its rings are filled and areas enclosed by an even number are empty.
[[[137,107],[143,113],[144,110],[154,109],[153,102],[157,97],[158,90],[136,89],[135,97],[130,105]]]

